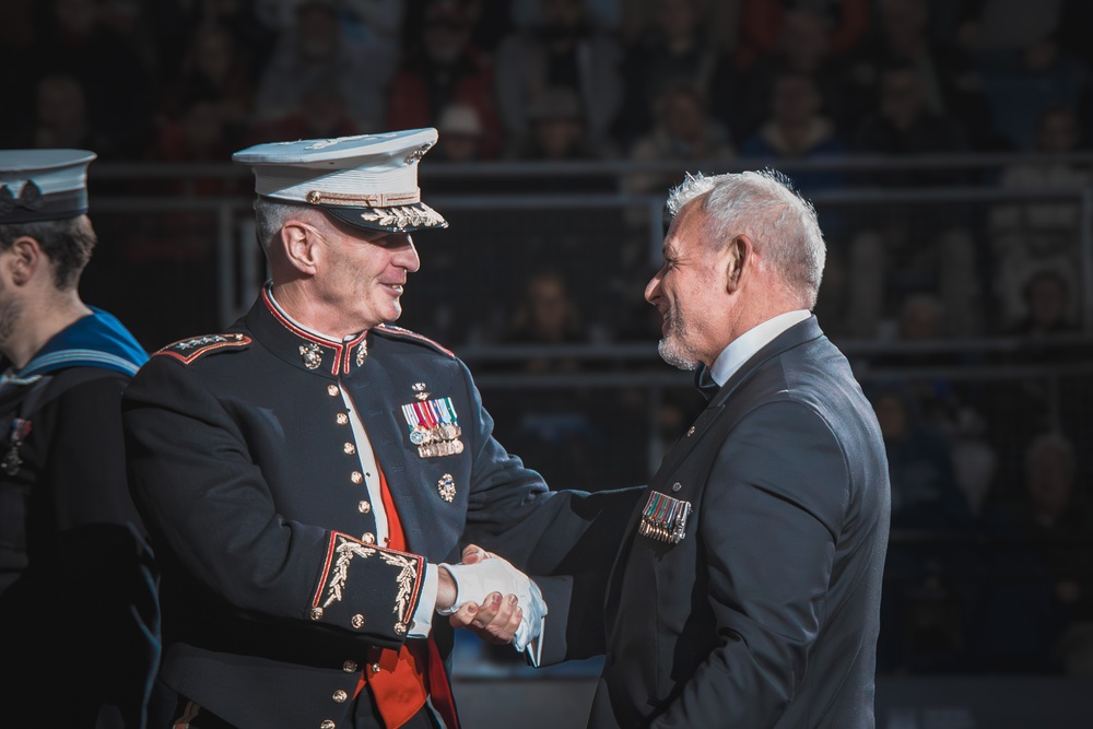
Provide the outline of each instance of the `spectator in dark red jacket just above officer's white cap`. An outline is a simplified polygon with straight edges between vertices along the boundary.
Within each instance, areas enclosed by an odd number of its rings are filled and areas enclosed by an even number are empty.
[[[435,127],[449,104],[469,106],[481,126],[478,154],[497,156],[502,131],[494,103],[493,63],[471,43],[479,10],[470,0],[425,3],[421,37],[390,84],[389,129]]]

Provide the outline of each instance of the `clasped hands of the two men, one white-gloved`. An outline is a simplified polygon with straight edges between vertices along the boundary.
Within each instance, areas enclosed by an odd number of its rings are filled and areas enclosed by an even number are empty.
[[[506,560],[473,544],[460,564],[439,564],[436,612],[520,652],[542,633],[546,616],[539,586]]]

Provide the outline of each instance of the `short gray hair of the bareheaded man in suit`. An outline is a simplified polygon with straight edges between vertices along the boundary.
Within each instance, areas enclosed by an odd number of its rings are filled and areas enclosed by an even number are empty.
[[[788,177],[773,169],[687,174],[668,195],[668,214],[674,217],[698,198],[716,245],[728,245],[733,233],[747,233],[789,290],[801,296],[804,308],[815,306],[827,249],[815,209]]]

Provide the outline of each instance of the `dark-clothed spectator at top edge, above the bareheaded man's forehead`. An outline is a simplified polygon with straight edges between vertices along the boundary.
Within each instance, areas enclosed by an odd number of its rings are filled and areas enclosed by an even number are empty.
[[[703,0],[653,0],[647,25],[625,46],[619,124],[624,146],[651,130],[656,105],[679,82],[710,98],[713,84],[727,72],[728,57],[709,34],[708,16]]]

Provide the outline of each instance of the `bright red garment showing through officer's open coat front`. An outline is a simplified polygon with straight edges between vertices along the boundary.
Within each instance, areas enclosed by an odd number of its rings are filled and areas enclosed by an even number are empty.
[[[406,536],[398,512],[395,509],[395,499],[391,498],[383,467],[378,462],[376,466],[379,470],[379,491],[384,499],[384,509],[387,512],[390,540],[388,546],[404,552]],[[433,698],[434,708],[444,719],[445,727],[459,729],[451,686],[448,684],[440,651],[432,635],[427,640],[409,639],[398,650],[391,648],[377,648],[377,650],[379,658],[375,663],[380,670],[373,672],[371,666],[366,667],[361,674],[356,693],[360,694],[365,684],[372,689],[376,707],[387,729],[398,729],[409,721],[421,710],[430,696]]]

